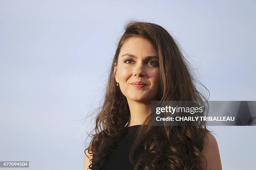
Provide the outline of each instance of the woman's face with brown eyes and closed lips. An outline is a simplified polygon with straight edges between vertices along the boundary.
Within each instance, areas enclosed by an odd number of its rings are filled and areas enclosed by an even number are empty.
[[[160,85],[159,58],[153,44],[141,37],[125,40],[118,55],[115,80],[127,100],[143,103],[155,100]]]

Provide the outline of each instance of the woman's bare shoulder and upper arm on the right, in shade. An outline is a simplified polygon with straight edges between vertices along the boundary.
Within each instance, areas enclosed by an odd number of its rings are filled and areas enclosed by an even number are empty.
[[[218,143],[212,133],[207,133],[205,136],[202,155],[205,158],[202,159],[202,169],[222,170]],[[207,162],[207,167],[205,160]]]

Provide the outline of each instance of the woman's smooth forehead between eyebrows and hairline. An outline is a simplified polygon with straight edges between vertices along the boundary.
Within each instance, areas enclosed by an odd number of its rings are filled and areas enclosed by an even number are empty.
[[[119,56],[131,53],[138,56],[157,55],[154,45],[142,37],[130,37],[123,43]]]

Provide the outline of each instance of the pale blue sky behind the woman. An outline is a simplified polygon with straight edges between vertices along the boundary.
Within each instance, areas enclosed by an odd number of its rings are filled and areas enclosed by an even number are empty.
[[[82,119],[99,106],[129,20],[166,28],[210,100],[256,100],[255,18],[253,0],[0,0],[0,160],[82,169],[93,125]],[[210,128],[223,170],[255,168],[255,126]]]

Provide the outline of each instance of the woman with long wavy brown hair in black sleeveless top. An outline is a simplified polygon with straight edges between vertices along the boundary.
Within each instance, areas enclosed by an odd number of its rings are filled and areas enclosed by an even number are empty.
[[[153,23],[131,22],[115,52],[84,170],[222,169],[218,144],[205,123],[152,126],[153,100],[206,99],[171,35]]]

